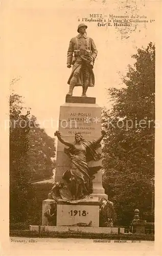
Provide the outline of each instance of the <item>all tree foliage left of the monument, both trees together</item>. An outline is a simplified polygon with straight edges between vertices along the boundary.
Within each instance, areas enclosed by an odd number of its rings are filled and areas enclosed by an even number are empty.
[[[37,196],[31,181],[50,178],[55,167],[55,140],[40,129],[23,107],[22,97],[10,95],[10,222],[31,220]],[[23,114],[26,112],[25,114]],[[37,124],[37,125],[36,125]],[[45,198],[44,198],[45,199]]]

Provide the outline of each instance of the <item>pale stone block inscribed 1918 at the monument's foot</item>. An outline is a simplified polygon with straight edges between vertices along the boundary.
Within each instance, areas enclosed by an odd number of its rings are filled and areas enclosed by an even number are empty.
[[[99,199],[88,198],[75,203],[57,202],[57,226],[85,225],[99,227]]]

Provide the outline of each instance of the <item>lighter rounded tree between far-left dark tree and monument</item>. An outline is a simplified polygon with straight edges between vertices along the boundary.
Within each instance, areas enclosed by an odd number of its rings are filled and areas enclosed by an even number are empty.
[[[30,122],[33,124],[29,132],[29,164],[32,170],[32,181],[50,178],[55,168],[55,139],[41,129],[35,116]]]

